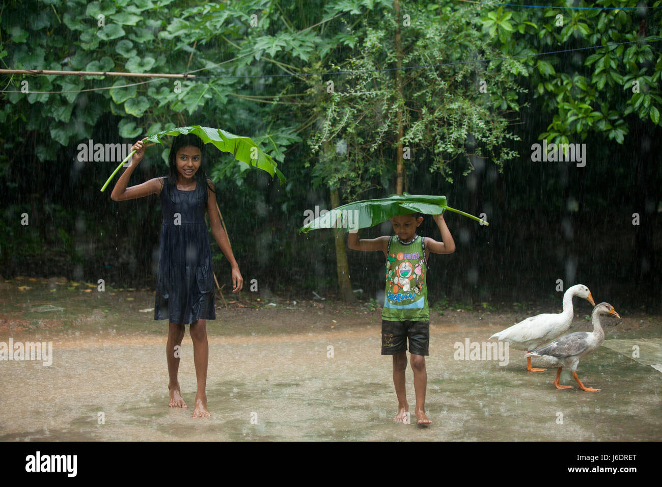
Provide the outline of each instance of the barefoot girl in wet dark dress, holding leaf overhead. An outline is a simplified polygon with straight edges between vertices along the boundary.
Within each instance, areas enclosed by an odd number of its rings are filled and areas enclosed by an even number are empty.
[[[132,149],[136,150],[136,154],[115,184],[111,199],[122,201],[154,193],[161,197],[163,224],[154,319],[169,320],[166,345],[169,406],[187,407],[181,397],[177,370],[184,325],[190,324],[198,383],[193,417],[206,417],[209,416],[205,392],[209,360],[207,319],[216,319],[216,314],[205,209],[209,214],[211,233],[232,267],[232,292],[242,289],[244,279],[232,254],[228,237],[220,225],[214,186],[201,167],[203,141],[196,135],[175,137],[169,154],[169,176],[126,188],[132,172],[145,153],[142,140],[138,140]]]

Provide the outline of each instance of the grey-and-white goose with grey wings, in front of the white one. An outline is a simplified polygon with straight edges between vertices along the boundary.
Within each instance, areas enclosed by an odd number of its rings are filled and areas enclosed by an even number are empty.
[[[582,384],[577,376],[577,365],[579,365],[580,358],[600,347],[600,343],[604,341],[604,331],[602,331],[602,327],[600,326],[600,315],[606,314],[620,318],[620,315],[616,313],[616,310],[612,305],[609,303],[600,303],[594,307],[593,312],[591,313],[591,321],[593,323],[592,333],[578,331],[577,333],[563,335],[563,337],[553,341],[549,345],[545,345],[545,347],[529,352],[526,356],[540,356],[546,364],[549,364],[549,366],[558,367],[556,380],[552,382],[557,389],[573,388],[573,386],[563,386],[562,384],[559,384],[561,369],[565,366],[573,371],[573,377],[577,381],[577,384],[579,384],[581,390],[586,392],[598,392],[600,389],[594,389]]]

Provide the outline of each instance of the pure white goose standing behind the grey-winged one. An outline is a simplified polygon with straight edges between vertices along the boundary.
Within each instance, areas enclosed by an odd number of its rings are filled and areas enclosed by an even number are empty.
[[[490,338],[507,342],[511,347],[518,350],[532,351],[541,345],[545,345],[557,339],[565,333],[573,323],[573,296],[587,299],[591,305],[595,305],[591,291],[583,284],[577,284],[568,288],[563,294],[563,312],[543,313],[532,316],[512,325],[510,328],[495,333]],[[530,372],[544,372],[546,368],[532,368],[531,357],[526,357],[526,370]]]

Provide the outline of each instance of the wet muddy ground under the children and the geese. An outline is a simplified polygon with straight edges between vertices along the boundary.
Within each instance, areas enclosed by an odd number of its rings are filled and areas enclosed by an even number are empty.
[[[120,294],[118,294],[120,295]],[[192,419],[195,397],[193,345],[183,342],[179,382],[187,409],[167,407],[166,321],[150,313],[149,293],[124,307],[110,296],[96,308],[82,301],[37,295],[0,305],[5,320],[17,307],[49,305],[54,317],[97,316],[54,329],[10,327],[0,342],[52,341],[53,362],[0,362],[0,439],[45,441],[139,440],[551,440],[641,441],[662,439],[662,374],[626,353],[600,347],[579,365],[589,386],[557,390],[555,370],[524,370],[524,352],[510,349],[509,363],[455,360],[456,342],[483,342],[512,323],[479,313],[432,317],[427,358],[427,428],[393,423],[397,400],[391,359],[381,356],[379,310],[237,309],[208,321],[208,406]],[[85,301],[87,299],[87,301]],[[126,299],[122,296],[118,299]],[[118,301],[119,302],[119,301]],[[92,309],[94,308],[94,309]],[[115,315],[115,312],[118,315]],[[589,309],[590,311],[590,309]],[[34,311],[36,313],[36,311]],[[27,313],[27,314],[26,314]],[[101,314],[100,314],[101,313]],[[451,316],[453,315],[453,316]],[[25,311],[22,319],[30,315]],[[44,317],[45,318],[45,317]],[[11,319],[11,317],[9,318]],[[335,320],[335,322],[334,322]],[[608,320],[608,319],[607,319]],[[588,329],[576,320],[577,329]],[[604,321],[603,321],[604,323]],[[334,328],[330,328],[334,326]],[[647,337],[659,349],[659,327],[607,338]],[[333,347],[332,358],[328,346]],[[620,347],[624,345],[620,344]],[[631,347],[630,347],[631,348]],[[654,349],[655,347],[653,347]],[[642,349],[643,350],[643,349]],[[534,362],[535,363],[535,362]],[[575,381],[563,372],[562,384]],[[411,409],[414,389],[407,370]],[[103,412],[105,423],[99,424]],[[412,414],[412,419],[414,415]]]

